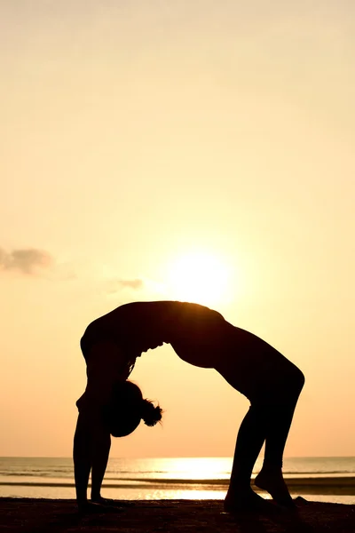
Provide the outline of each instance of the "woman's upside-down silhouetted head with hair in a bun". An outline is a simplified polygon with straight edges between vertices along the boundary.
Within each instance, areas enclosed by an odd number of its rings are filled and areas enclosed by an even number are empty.
[[[131,381],[114,386],[111,402],[104,410],[106,426],[114,437],[131,434],[144,420],[146,426],[155,426],[162,419],[162,409],[145,400],[140,388]]]

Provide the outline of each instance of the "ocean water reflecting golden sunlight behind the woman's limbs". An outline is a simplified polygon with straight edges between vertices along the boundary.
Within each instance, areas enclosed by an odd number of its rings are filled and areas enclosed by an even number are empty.
[[[232,457],[110,458],[102,495],[126,500],[223,499],[232,461]],[[260,467],[261,459],[254,475]],[[355,504],[355,457],[289,457],[283,472],[293,483],[293,496]],[[72,459],[0,457],[0,497],[74,498]]]

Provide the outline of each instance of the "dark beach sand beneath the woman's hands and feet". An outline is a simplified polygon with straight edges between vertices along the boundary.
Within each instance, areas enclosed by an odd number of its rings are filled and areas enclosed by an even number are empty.
[[[342,533],[355,531],[355,505],[307,502],[296,512],[224,513],[218,500],[135,500],[80,516],[74,500],[0,498],[2,533]]]

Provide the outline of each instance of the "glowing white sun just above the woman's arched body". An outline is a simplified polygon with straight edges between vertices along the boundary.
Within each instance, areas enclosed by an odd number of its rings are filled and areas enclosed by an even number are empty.
[[[171,298],[215,306],[228,296],[228,267],[217,254],[193,251],[175,259],[168,272]]]

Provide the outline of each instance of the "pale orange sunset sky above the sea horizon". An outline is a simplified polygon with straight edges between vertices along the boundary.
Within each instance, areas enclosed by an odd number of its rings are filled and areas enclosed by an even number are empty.
[[[286,456],[355,455],[355,3],[0,0],[0,456],[70,456],[79,340],[122,303],[216,308],[306,384]],[[170,346],[162,426],[232,456],[248,401]]]

